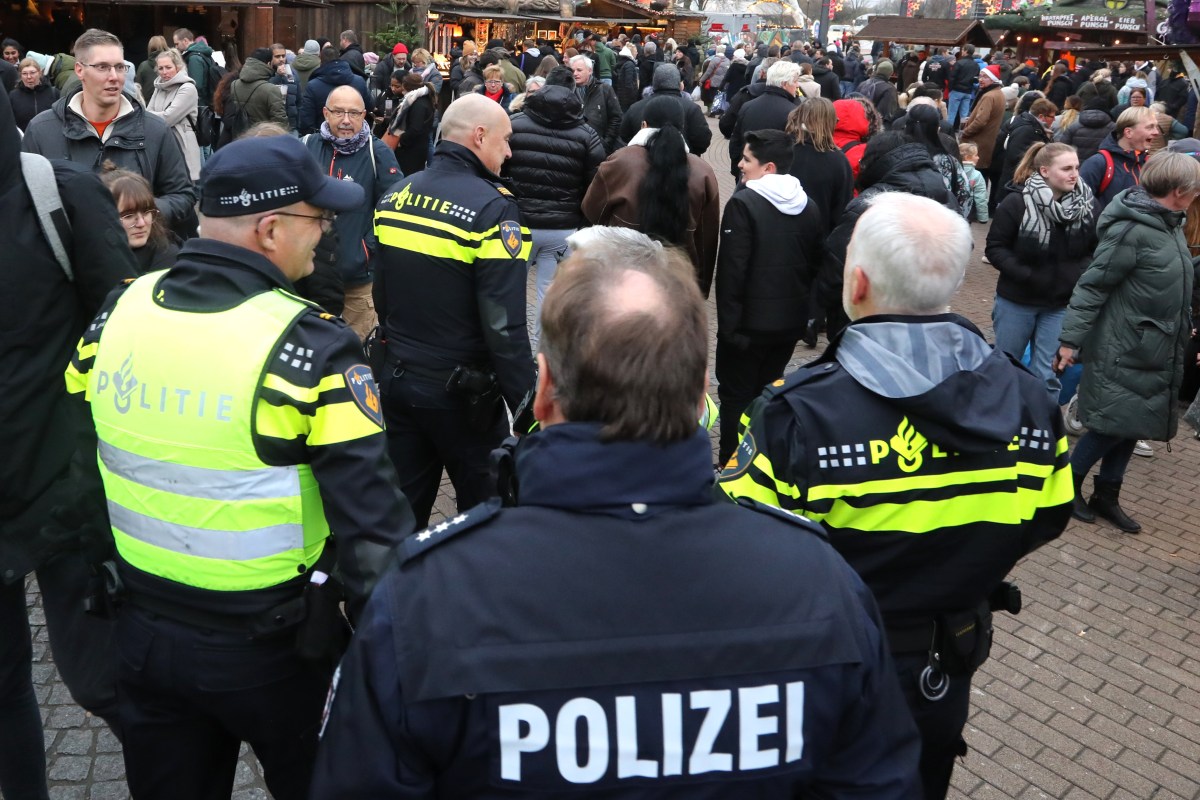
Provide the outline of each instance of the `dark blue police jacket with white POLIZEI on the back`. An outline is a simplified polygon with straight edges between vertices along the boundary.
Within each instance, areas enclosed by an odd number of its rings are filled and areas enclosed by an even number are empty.
[[[517,450],[521,506],[404,543],[313,798],[919,796],[870,593],[820,529],[712,500],[703,433]]]

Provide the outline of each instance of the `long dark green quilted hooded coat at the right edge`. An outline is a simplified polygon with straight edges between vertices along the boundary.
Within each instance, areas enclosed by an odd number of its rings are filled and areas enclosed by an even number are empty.
[[[1088,431],[1159,440],[1176,433],[1195,278],[1183,219],[1141,187],[1118,193],[1100,215],[1100,243],[1060,336],[1084,363],[1079,420]]]

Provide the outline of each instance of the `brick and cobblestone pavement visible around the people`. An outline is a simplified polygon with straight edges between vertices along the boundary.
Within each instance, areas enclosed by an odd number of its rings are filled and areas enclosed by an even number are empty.
[[[726,142],[715,127],[704,157],[728,197]],[[990,336],[995,272],[979,261],[986,228],[973,228],[976,255],[954,309]],[[816,353],[800,344],[792,366]],[[1170,450],[1156,443],[1152,458],[1134,458],[1122,494],[1145,527],[1140,536],[1073,522],[1016,567],[1025,610],[997,615],[991,658],[974,681],[971,752],[955,769],[952,798],[1200,798],[1198,468],[1200,441],[1187,431]],[[443,487],[436,513],[452,510]],[[32,584],[30,606],[52,796],[127,796],[115,739],[59,680]],[[268,796],[250,753],[233,796]]]

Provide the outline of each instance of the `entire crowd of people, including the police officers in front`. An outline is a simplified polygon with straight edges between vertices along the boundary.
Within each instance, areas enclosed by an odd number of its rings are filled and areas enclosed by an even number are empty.
[[[1130,458],[1176,434],[1194,94],[564,43],[4,42],[5,796],[47,796],[30,572],[134,798],[226,796],[241,741],[281,799],[946,796],[1006,575],[1072,516],[1138,533]],[[994,343],[948,312],[972,222]]]

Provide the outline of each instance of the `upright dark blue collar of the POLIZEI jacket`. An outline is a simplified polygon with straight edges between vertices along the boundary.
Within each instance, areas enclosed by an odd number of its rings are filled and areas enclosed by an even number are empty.
[[[713,451],[696,427],[685,441],[601,441],[596,422],[564,422],[521,440],[521,505],[646,518],[713,501]]]

